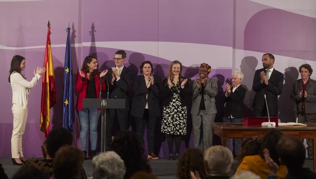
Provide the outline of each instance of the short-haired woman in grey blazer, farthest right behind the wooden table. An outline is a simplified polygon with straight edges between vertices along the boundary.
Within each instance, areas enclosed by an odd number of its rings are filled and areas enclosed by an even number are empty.
[[[316,81],[310,78],[313,69],[309,64],[299,68],[301,79],[295,81],[291,99],[295,101],[294,111],[298,123],[316,123]],[[313,157],[313,140],[307,139],[307,158]]]

